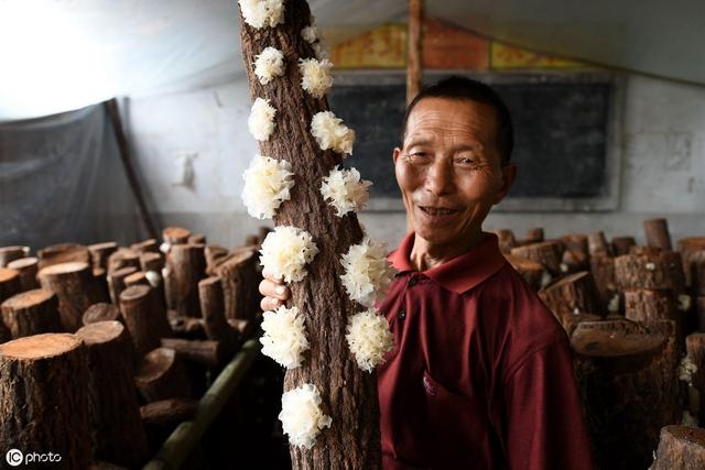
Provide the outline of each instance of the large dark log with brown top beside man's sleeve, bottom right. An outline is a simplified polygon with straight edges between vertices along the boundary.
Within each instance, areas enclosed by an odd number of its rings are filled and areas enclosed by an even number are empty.
[[[672,321],[629,320],[575,329],[575,372],[597,468],[647,468],[659,429],[680,422],[673,331]]]

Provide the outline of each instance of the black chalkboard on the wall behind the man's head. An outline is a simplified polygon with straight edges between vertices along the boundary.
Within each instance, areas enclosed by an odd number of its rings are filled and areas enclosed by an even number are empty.
[[[391,154],[400,143],[405,88],[403,83],[379,81],[337,84],[328,99],[334,112],[357,132],[345,166],[357,167],[373,182],[372,198],[398,198]],[[519,77],[492,86],[514,122],[512,160],[519,178],[510,198],[592,198],[607,192],[614,83]]]

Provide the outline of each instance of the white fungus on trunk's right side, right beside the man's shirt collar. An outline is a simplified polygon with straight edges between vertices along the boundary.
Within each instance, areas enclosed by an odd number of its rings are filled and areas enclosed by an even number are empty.
[[[340,263],[345,270],[340,280],[348,296],[366,307],[384,296],[395,272],[387,260],[387,245],[368,238],[360,244],[350,245]]]

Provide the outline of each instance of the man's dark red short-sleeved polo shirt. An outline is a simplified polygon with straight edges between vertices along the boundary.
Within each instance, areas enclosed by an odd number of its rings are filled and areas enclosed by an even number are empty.
[[[384,469],[593,469],[567,336],[497,237],[423,272],[413,241],[379,305],[397,346],[378,368]]]

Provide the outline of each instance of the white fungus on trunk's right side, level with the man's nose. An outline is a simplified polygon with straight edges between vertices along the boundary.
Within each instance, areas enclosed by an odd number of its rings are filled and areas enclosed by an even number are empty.
[[[360,172],[355,168],[338,170],[336,166],[323,178],[321,194],[336,210],[338,217],[365,208],[370,199],[368,188],[372,183],[360,179]]]

